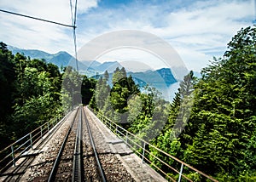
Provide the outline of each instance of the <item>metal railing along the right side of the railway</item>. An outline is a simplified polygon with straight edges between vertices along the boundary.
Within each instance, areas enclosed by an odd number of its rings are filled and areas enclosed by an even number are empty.
[[[90,111],[92,111],[90,109]],[[218,180],[213,179],[211,176],[207,175],[206,173],[201,172],[200,170],[193,168],[189,164],[177,159],[177,157],[168,154],[166,151],[162,151],[154,145],[149,144],[144,139],[140,139],[137,135],[131,134],[131,132],[127,131],[125,128],[122,128],[116,122],[112,122],[107,117],[102,116],[101,113],[92,111],[96,114],[96,116],[102,121],[119,139],[122,139],[125,142],[125,145],[131,148],[131,151],[135,152],[138,156],[142,158],[142,162],[147,162],[151,167],[154,167],[158,172],[160,172],[166,179],[171,181],[182,181],[183,179],[187,181],[193,181],[193,179],[189,178],[188,173],[183,173],[184,169],[186,172],[196,173],[197,175],[201,176],[201,180],[203,181],[215,181]],[[147,146],[147,147],[146,147]],[[168,158],[172,158],[173,161],[177,162],[180,168],[174,168],[167,162],[160,159],[160,157],[155,156],[152,152],[147,150],[148,148],[152,148],[155,151],[160,152],[161,156],[166,156]],[[148,157],[150,156],[150,157]],[[154,158],[154,162],[149,158]],[[167,168],[167,170],[163,170],[159,168],[155,163],[158,162],[161,166]],[[166,173],[168,171],[168,173]],[[175,177],[170,175],[170,173],[176,173]]]

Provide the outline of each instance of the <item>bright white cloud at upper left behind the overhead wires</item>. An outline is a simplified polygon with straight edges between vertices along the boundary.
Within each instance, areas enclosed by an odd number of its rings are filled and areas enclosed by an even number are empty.
[[[73,1],[74,2],[74,1]],[[96,7],[96,1],[78,1],[78,13]],[[74,5],[74,4],[73,4]],[[72,25],[69,1],[62,0],[9,0],[1,1],[1,9],[26,14],[44,20]],[[27,19],[0,12],[0,39],[19,48],[41,49],[49,53],[65,50],[73,54],[72,29],[43,21]]]

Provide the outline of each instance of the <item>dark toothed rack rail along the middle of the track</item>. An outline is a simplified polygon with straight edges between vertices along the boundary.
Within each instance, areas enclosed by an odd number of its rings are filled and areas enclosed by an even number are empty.
[[[82,150],[82,109],[80,109],[79,115],[79,124],[76,135],[76,143],[74,148],[73,156],[73,176],[72,181],[82,181],[82,159],[83,150]]]

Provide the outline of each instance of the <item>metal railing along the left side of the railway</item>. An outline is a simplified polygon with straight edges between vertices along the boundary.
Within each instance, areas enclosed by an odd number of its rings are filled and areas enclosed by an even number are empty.
[[[38,146],[44,141],[45,134],[49,133],[50,129],[55,126],[59,126],[67,116],[70,114],[64,114],[61,117],[45,122],[42,126],[32,130],[29,134],[26,134],[22,138],[15,141],[15,143],[5,147],[0,151],[0,175],[9,167],[16,166],[18,159],[30,149],[37,149]],[[61,119],[61,121],[60,121]],[[59,122],[60,121],[60,122]],[[41,142],[39,141],[41,139]]]

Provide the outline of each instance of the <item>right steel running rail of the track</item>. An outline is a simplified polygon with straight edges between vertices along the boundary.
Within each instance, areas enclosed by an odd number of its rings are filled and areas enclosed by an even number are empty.
[[[84,109],[83,109],[83,113],[84,113]],[[94,155],[95,155],[95,158],[96,158],[96,164],[97,164],[97,167],[98,167],[98,171],[99,173],[101,174],[102,176],[102,181],[103,182],[106,182],[107,179],[106,179],[106,175],[105,173],[103,172],[103,169],[102,169],[102,164],[99,160],[99,157],[97,155],[97,151],[96,151],[96,146],[95,146],[95,143],[94,143],[94,140],[93,140],[93,137],[92,137],[92,134],[91,134],[91,131],[90,131],[90,125],[89,125],[89,122],[88,122],[88,118],[86,117],[85,113],[83,114],[84,115],[84,121],[86,123],[86,127],[87,127],[87,130],[88,130],[88,134],[90,136],[90,144],[93,148],[93,151],[94,151]]]

